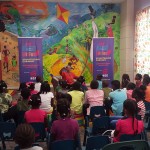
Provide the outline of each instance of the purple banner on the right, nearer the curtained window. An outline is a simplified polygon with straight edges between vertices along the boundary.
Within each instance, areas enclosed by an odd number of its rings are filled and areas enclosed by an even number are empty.
[[[93,76],[102,74],[104,80],[114,78],[114,38],[93,39]]]

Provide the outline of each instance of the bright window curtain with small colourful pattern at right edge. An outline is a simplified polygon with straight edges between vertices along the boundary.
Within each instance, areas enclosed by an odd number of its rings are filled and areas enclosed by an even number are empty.
[[[150,74],[150,7],[136,15],[135,73]]]

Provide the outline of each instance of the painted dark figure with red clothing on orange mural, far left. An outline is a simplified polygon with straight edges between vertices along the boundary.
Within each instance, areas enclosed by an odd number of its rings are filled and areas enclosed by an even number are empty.
[[[7,49],[6,45],[4,46],[2,54],[4,54],[3,68],[6,69],[7,72],[9,72],[9,69],[8,69],[8,56],[10,54],[10,51]]]

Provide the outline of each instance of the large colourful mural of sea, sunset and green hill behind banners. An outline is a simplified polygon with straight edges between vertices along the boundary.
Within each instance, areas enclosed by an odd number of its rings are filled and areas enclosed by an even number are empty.
[[[93,37],[114,37],[114,72],[120,70],[120,5],[52,2],[1,2],[0,19],[6,30],[22,37],[43,38],[43,77],[68,62],[73,72],[92,80]]]

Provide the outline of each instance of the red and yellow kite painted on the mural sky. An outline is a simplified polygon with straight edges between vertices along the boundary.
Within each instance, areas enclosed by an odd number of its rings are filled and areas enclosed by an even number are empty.
[[[65,22],[66,24],[68,24],[70,11],[65,9],[65,8],[63,8],[59,4],[57,4],[56,9],[57,9],[57,19]]]

